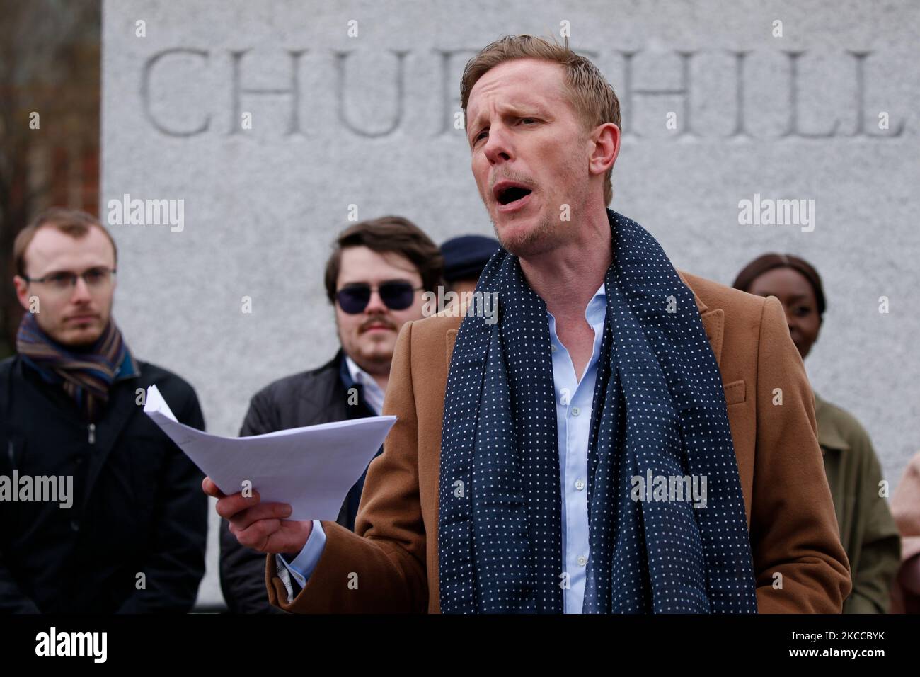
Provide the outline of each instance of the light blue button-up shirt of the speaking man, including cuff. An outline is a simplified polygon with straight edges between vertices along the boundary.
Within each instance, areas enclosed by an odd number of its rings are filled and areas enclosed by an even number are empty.
[[[565,613],[581,613],[584,602],[585,574],[588,566],[588,441],[591,438],[592,399],[597,381],[597,364],[604,338],[607,295],[602,283],[584,310],[584,319],[594,330],[591,360],[581,380],[566,346],[556,335],[556,318],[547,312],[549,343],[553,356],[553,382],[556,387],[556,422],[558,427],[559,478],[562,491],[562,566]],[[277,555],[279,570],[286,567],[303,588],[316,568],[326,546],[326,532],[314,519],[313,531],[304,549],[292,562]],[[283,577],[282,577],[283,579]],[[287,586],[285,586],[287,587]],[[293,597],[293,590],[288,590]]]

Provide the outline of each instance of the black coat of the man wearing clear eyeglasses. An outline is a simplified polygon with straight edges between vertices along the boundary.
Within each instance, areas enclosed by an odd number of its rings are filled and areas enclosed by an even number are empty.
[[[204,575],[202,474],[144,414],[152,384],[203,429],[195,391],[135,360],[90,430],[63,388],[0,363],[0,475],[72,475],[73,506],[0,501],[0,612],[188,612]],[[138,576],[143,574],[143,577]]]

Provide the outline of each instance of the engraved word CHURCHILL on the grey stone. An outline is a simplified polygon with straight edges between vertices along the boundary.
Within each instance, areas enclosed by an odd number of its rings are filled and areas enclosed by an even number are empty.
[[[474,50],[417,50],[399,51],[380,49],[374,52],[341,52],[306,49],[288,49],[270,52],[253,50],[205,50],[193,47],[176,47],[150,54],[140,68],[140,98],[144,117],[156,132],[171,137],[193,137],[201,134],[224,134],[245,137],[240,116],[253,101],[261,101],[283,112],[284,123],[276,130],[280,138],[310,138],[319,134],[339,133],[356,137],[376,138],[397,134],[401,130],[418,132],[407,122],[407,111],[421,111],[432,138],[453,134],[457,143],[464,142],[463,134],[455,134],[455,113],[459,111],[459,93],[456,91],[457,72]],[[850,102],[844,108],[826,115],[812,115],[821,122],[809,119],[809,109],[802,92],[807,85],[807,72],[811,53],[799,52],[746,52],[746,51],[696,51],[654,53],[665,57],[668,65],[642,70],[638,64],[649,54],[641,51],[610,51],[596,53],[583,51],[600,64],[615,64],[607,68],[626,113],[624,131],[626,139],[642,139],[655,123],[650,121],[648,109],[655,102],[668,100],[676,103],[674,114],[680,121],[674,134],[665,140],[739,140],[753,139],[823,139],[853,138],[889,139],[899,137],[905,129],[903,115],[896,112],[874,111],[868,104],[868,64],[878,53],[842,51],[833,53],[834,76],[852,90]],[[827,54],[821,53],[822,56]],[[721,57],[720,66],[706,61],[707,76],[724,83],[730,96],[719,99],[719,111],[724,109],[720,129],[698,122],[697,106],[704,95],[694,74],[699,72],[701,60]],[[776,120],[773,131],[765,131],[763,124],[752,123],[753,108],[745,101],[758,79],[750,75],[753,65],[764,60],[778,59],[785,75],[780,78],[776,91],[775,110],[770,113]],[[773,62],[770,62],[773,63]],[[363,71],[369,66],[380,66],[387,74],[374,80],[374,95],[362,85]],[[875,68],[880,66],[876,64]],[[696,70],[695,70],[696,68]],[[270,71],[272,86],[257,87],[252,84],[253,74]],[[280,74],[280,75],[279,75]],[[411,88],[414,77],[424,76],[425,81],[435,81],[434,87]],[[815,76],[811,73],[811,76]],[[677,84],[673,82],[676,80]],[[305,85],[309,81],[310,86]],[[661,82],[672,83],[661,86]],[[170,83],[190,82],[203,88],[205,96],[193,103],[180,97]],[[334,110],[331,122],[317,123],[311,119],[314,110],[324,98],[331,97]],[[811,106],[816,105],[811,98]],[[362,106],[356,106],[355,101]],[[226,104],[229,103],[229,106]],[[358,110],[360,109],[360,110]],[[765,115],[763,111],[759,114]],[[413,121],[417,121],[419,113]],[[632,115],[633,117],[630,117]],[[875,125],[879,115],[884,115],[884,127]],[[335,129],[328,129],[328,125]],[[408,129],[411,127],[411,129]]]

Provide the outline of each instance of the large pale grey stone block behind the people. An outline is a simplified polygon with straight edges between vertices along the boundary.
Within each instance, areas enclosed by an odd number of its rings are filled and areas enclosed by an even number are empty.
[[[253,392],[336,349],[322,266],[349,205],[437,241],[491,232],[453,126],[460,73],[503,34],[569,21],[623,104],[613,207],[725,284],[764,251],[814,263],[828,311],[809,375],[868,428],[893,486],[920,449],[918,15],[854,0],[107,0],[101,204],[185,209],[181,232],[112,227],[116,317],[138,356],[196,387],[211,431],[236,434]],[[814,200],[814,229],[739,225],[755,193]],[[202,602],[221,599],[215,544],[213,530]]]

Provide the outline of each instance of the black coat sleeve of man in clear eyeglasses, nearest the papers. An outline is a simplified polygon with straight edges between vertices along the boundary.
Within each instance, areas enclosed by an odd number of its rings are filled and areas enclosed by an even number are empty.
[[[178,420],[204,429],[194,391],[178,410]],[[208,497],[204,475],[181,449],[169,443],[156,496],[156,527],[151,555],[144,562],[145,589],[136,590],[119,613],[189,612],[204,576]]]

